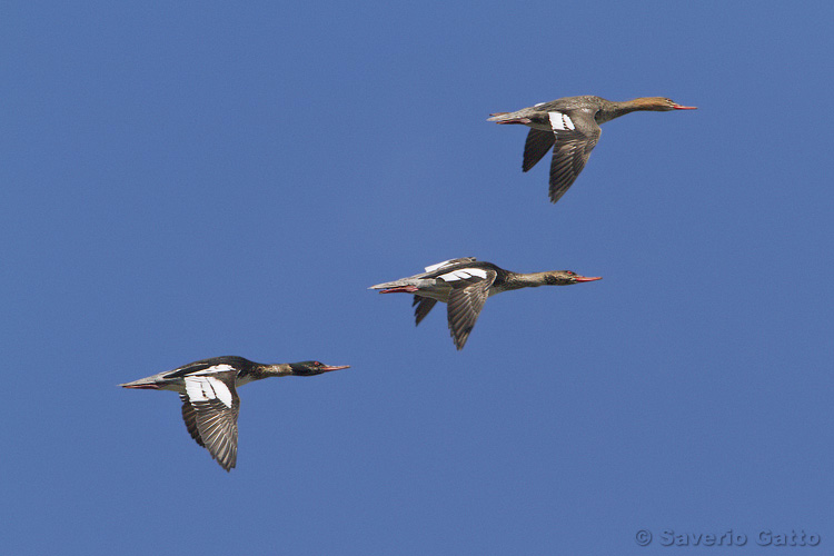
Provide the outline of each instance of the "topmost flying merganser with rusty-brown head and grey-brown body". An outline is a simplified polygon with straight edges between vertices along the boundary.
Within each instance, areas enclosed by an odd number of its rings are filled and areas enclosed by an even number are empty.
[[[488,121],[523,123],[530,129],[524,143],[522,171],[527,171],[553,149],[550,161],[550,202],[558,201],[579,176],[590,151],[599,140],[600,123],[636,110],[695,110],[663,97],[643,97],[612,102],[599,97],[565,97],[540,102],[517,112],[496,112]]]

